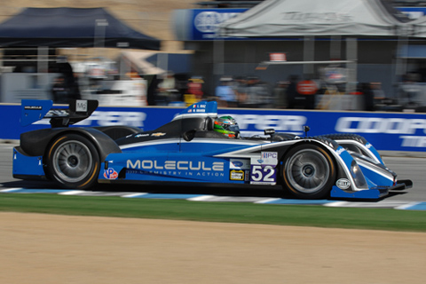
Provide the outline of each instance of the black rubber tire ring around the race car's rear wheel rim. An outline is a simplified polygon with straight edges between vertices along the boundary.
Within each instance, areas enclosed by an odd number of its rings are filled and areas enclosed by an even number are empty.
[[[83,179],[78,182],[68,182],[59,176],[59,173],[55,170],[54,166],[54,154],[59,149],[60,146],[63,146],[71,141],[77,141],[82,143],[87,147],[91,154],[91,170],[89,173],[83,177]],[[100,167],[100,159],[99,159],[99,151],[97,148],[91,143],[88,138],[84,138],[82,135],[78,134],[64,134],[59,138],[56,138],[51,146],[48,148],[47,154],[47,171],[49,177],[57,182],[60,186],[65,188],[75,188],[75,189],[87,189],[94,185],[99,176],[99,167]]]

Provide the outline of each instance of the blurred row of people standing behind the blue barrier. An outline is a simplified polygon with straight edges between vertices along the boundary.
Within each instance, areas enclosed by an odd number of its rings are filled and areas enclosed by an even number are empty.
[[[319,109],[321,95],[339,96],[342,86],[335,85],[330,92],[327,84],[315,81],[318,90],[313,94],[303,94],[298,91],[297,84],[301,79],[296,75],[274,85],[265,83],[255,75],[222,76],[217,80],[214,93],[205,91],[204,79],[199,76],[190,78],[179,77],[172,72],[154,79],[149,88],[147,101],[149,106],[190,105],[201,99],[215,99],[220,107],[252,107],[252,108],[281,108],[281,109]],[[401,88],[401,92],[406,91]],[[386,97],[381,83],[359,83],[351,95],[357,96],[360,109],[387,109],[398,105],[398,101]],[[402,98],[407,97],[402,96]],[[336,99],[337,97],[335,97]]]

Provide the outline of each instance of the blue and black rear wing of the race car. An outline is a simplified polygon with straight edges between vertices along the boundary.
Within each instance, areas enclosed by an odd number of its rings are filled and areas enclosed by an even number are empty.
[[[96,110],[99,103],[94,99],[76,99],[68,107],[53,107],[48,99],[22,99],[20,105],[20,125],[28,126],[43,118],[50,118],[51,127],[68,127],[83,121]]]

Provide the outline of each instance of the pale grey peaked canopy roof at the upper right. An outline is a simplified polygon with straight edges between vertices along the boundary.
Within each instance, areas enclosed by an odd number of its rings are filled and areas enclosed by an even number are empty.
[[[398,36],[406,17],[381,0],[265,0],[221,25],[222,36]]]

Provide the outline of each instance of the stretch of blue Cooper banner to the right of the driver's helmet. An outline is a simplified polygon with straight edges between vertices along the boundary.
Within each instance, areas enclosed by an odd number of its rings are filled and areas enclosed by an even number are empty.
[[[273,128],[304,136],[307,125],[311,128],[308,136],[353,133],[367,138],[377,150],[426,151],[426,114],[235,109],[226,114],[233,115],[249,135]]]

